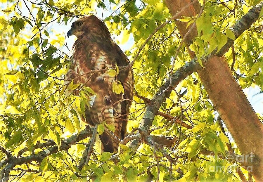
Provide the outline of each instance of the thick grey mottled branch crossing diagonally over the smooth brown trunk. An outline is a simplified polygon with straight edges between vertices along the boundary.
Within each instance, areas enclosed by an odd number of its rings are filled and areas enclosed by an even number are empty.
[[[260,3],[256,7],[252,8],[246,15],[244,15],[236,24],[231,27],[231,30],[236,37],[240,36],[246,29],[248,29],[258,18],[259,12],[262,8],[263,3]],[[243,25],[243,27],[240,27]],[[233,40],[228,39],[227,43],[219,51],[217,55],[223,55],[231,46]],[[207,62],[210,57],[215,55],[216,51],[213,51],[210,55],[203,58],[203,62]],[[152,125],[153,119],[158,112],[161,104],[165,101],[165,98],[169,97],[171,91],[188,75],[197,70],[201,69],[199,63],[197,63],[197,58],[193,58],[190,62],[186,63],[183,67],[177,69],[174,74],[172,74],[172,81],[167,79],[167,81],[159,88],[157,93],[154,94],[152,101],[146,106],[146,111],[144,113],[143,119],[139,125],[139,129],[144,132],[149,132],[150,126]],[[169,86],[169,84],[171,85]],[[130,147],[136,150],[140,145],[140,141],[133,140],[130,143]]]

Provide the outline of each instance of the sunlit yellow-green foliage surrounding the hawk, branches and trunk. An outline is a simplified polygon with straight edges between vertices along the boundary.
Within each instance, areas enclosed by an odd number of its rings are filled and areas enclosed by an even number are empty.
[[[196,22],[199,36],[190,48],[198,58],[211,53],[216,47],[220,50],[228,38],[234,39],[229,27],[259,0],[238,1],[237,4],[235,1],[216,2],[206,1],[200,18],[180,19],[189,22],[189,25]],[[64,75],[70,64],[66,37],[61,31],[65,25],[70,25],[74,18],[81,15],[99,15],[101,11],[102,15],[106,14],[104,21],[111,34],[120,40],[118,44],[133,44],[125,51],[132,60],[150,34],[171,17],[161,0],[4,0],[0,7],[0,146],[15,157],[38,153],[45,148],[34,146],[49,140],[54,141],[60,150],[62,140],[85,128],[79,118],[89,101],[86,95],[94,93],[88,87],[64,86]],[[57,27],[61,27],[59,31]],[[133,65],[135,91],[139,96],[152,98],[169,77],[173,59],[176,60],[174,70],[190,60],[184,46],[179,49],[177,58],[173,57],[181,40],[175,23],[171,22],[158,30],[143,47]],[[243,89],[258,86],[263,90],[262,45],[261,18],[234,43],[234,75]],[[225,56],[231,65],[231,50]],[[118,70],[110,72],[117,74]],[[66,89],[79,89],[80,94],[65,96]],[[118,84],[114,89],[116,93],[123,91]],[[180,96],[184,91],[187,92]],[[139,126],[145,105],[145,100],[134,96],[128,132]],[[173,146],[161,147],[162,152],[142,143],[132,155],[126,145],[120,145],[124,152],[120,154],[120,161],[114,163],[110,160],[112,154],[99,154],[96,143],[89,164],[79,171],[77,166],[86,147],[84,144],[90,139],[88,137],[66,151],[45,157],[39,163],[34,161],[16,166],[17,170],[10,172],[10,179],[85,181],[91,176],[96,176],[96,181],[239,179],[237,162],[216,157],[227,154],[227,144],[231,144],[237,154],[240,152],[234,141],[229,141],[222,132],[218,114],[196,73],[172,91],[159,111],[191,126],[189,129],[177,124],[175,119],[156,116],[150,129],[151,135],[178,137]],[[98,133],[101,134],[105,127],[112,130],[111,126],[101,124]],[[26,152],[19,152],[25,148],[28,149]],[[204,150],[212,151],[215,156],[202,153]],[[0,159],[5,158],[6,155],[1,152]],[[175,162],[171,163],[169,158]],[[224,166],[224,169],[211,170],[216,166]],[[247,176],[248,172],[243,168],[241,170]]]

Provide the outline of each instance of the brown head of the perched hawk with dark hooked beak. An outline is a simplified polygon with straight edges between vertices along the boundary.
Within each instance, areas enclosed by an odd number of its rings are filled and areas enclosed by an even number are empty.
[[[78,18],[71,25],[67,36],[75,35],[77,38],[84,34],[97,34],[99,36],[110,36],[110,32],[105,23],[95,15],[85,15]]]

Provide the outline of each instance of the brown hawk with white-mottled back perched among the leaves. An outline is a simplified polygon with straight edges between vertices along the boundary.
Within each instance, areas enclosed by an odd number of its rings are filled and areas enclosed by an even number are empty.
[[[108,74],[107,68],[126,66],[129,59],[111,39],[105,23],[94,15],[77,19],[67,35],[75,35],[77,40],[73,45],[72,63],[65,79],[90,87],[96,93],[89,98],[90,105],[86,106],[86,120],[82,119],[91,126],[102,122],[113,124],[115,136],[123,139],[133,99],[133,72],[131,68],[123,69],[116,76],[110,76],[112,74]],[[105,68],[105,71],[98,71]],[[87,72],[89,74],[85,74]],[[118,83],[122,84],[124,94],[113,92],[113,84]],[[112,135],[103,132],[99,137],[104,152],[118,150],[118,142],[115,142]]]

